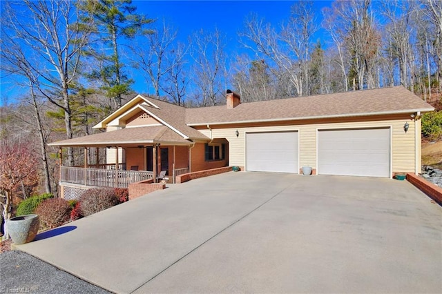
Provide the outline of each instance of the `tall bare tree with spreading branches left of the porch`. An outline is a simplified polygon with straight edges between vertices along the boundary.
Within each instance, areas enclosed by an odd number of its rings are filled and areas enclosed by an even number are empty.
[[[89,32],[77,22],[78,11],[68,0],[23,0],[6,11],[2,17],[3,35],[19,40],[17,45],[27,56],[39,59],[39,63],[30,63],[37,77],[33,85],[64,111],[66,137],[72,138],[70,95]],[[68,164],[74,164],[72,148],[68,148]]]

